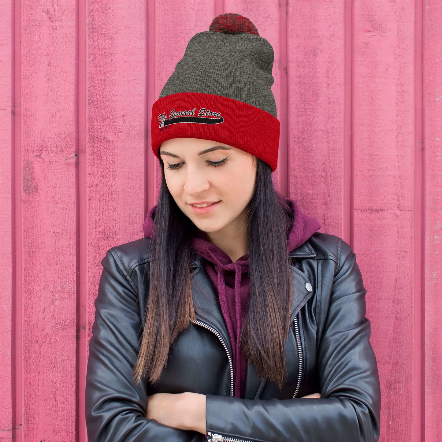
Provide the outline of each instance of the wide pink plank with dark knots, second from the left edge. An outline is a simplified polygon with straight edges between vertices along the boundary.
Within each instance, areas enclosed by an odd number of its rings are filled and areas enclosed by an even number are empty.
[[[21,2],[23,440],[75,439],[74,17]]]

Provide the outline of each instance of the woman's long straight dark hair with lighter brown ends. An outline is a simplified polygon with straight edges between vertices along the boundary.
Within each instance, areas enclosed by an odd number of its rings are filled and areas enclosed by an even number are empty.
[[[256,158],[255,188],[247,223],[250,298],[240,331],[240,347],[261,378],[282,388],[286,382],[285,342],[290,330],[292,290],[287,229],[290,220],[278,201],[271,168]],[[196,319],[191,294],[194,223],[175,203],[164,178],[155,212],[152,241],[152,281],[145,327],[134,380],[155,384],[168,359],[169,347]]]

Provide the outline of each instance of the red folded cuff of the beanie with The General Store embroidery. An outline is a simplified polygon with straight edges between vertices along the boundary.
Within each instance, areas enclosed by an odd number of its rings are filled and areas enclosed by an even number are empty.
[[[228,144],[263,160],[273,172],[278,164],[280,123],[259,107],[221,95],[178,92],[152,106],[152,151],[171,138],[201,138]]]

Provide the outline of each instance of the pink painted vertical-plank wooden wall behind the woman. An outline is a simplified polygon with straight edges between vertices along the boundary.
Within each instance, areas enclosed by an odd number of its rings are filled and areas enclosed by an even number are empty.
[[[86,441],[100,260],[142,237],[152,103],[224,12],[274,47],[276,185],[357,254],[380,440],[442,440],[440,0],[0,0],[0,441]]]

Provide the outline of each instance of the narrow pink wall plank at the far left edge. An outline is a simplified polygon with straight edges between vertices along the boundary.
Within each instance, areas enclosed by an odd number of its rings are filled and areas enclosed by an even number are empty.
[[[0,438],[11,441],[12,428],[11,386],[12,378],[12,218],[13,195],[11,146],[14,143],[11,131],[12,111],[12,77],[11,54],[12,47],[12,3],[0,1],[0,254],[4,257],[0,268],[0,373],[2,388],[0,390]]]

